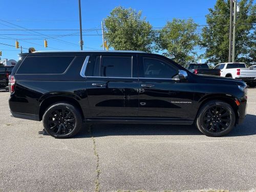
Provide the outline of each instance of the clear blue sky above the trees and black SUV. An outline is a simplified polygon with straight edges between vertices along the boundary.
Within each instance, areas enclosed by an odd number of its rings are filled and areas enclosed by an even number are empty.
[[[83,50],[102,50],[101,20],[117,6],[141,10],[153,27],[163,27],[167,20],[189,17],[198,25],[205,25],[208,8],[215,3],[216,0],[81,0]],[[19,46],[37,51],[80,50],[78,0],[0,0],[0,5],[0,43],[15,46],[17,39]],[[48,48],[44,47],[45,39]],[[20,49],[2,44],[2,59],[17,60]]]

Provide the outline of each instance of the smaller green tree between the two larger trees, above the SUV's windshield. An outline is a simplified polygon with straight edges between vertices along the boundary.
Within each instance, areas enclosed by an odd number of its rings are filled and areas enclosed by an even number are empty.
[[[196,30],[197,24],[193,19],[174,18],[159,31],[156,40],[158,50],[164,51],[163,55],[180,65],[195,62],[197,56],[195,48],[199,45],[199,34]]]

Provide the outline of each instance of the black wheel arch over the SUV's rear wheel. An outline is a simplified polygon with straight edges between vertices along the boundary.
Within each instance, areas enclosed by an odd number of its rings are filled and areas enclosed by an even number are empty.
[[[42,100],[42,102],[40,103],[39,106],[39,121],[42,120],[42,116],[44,115],[45,111],[49,108],[49,106],[51,106],[54,103],[57,102],[67,102],[69,104],[72,104],[74,106],[77,107],[77,109],[80,111],[82,117],[84,118],[84,114],[81,108],[81,105],[79,104],[79,102],[72,98],[72,97],[68,97],[68,96],[51,96],[48,97],[44,100]]]

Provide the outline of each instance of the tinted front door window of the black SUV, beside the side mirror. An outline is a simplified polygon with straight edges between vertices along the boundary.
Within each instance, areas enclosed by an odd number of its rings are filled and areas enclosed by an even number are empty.
[[[169,63],[154,58],[143,58],[143,69],[146,78],[173,78],[178,74]]]

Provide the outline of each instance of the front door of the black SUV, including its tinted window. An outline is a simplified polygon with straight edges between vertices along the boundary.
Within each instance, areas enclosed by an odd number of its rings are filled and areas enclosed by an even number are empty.
[[[138,61],[139,117],[193,119],[193,83],[177,79],[179,68],[157,57]]]

